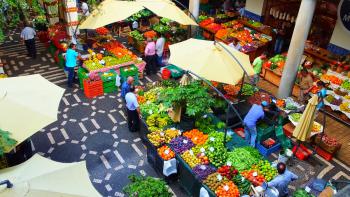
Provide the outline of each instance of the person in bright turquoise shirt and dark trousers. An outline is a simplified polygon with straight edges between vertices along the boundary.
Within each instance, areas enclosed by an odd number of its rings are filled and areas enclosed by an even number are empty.
[[[66,52],[66,71],[68,72],[68,87],[73,87],[74,80],[74,68],[77,66],[77,60],[79,58],[75,44],[70,44],[69,49]]]

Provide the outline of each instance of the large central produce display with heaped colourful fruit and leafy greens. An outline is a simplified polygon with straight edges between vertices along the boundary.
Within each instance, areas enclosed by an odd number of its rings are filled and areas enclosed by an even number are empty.
[[[174,81],[146,87],[146,91],[138,92],[138,100],[143,118],[141,138],[150,154],[147,157],[152,165],[157,165],[154,166],[157,171],[164,166],[164,161],[175,157],[179,183],[190,196],[198,196],[201,189],[207,190],[210,196],[249,195],[251,185],[260,186],[277,175],[277,170],[257,149],[244,143],[230,149],[224,145],[225,123],[205,110],[212,101],[207,97],[210,96],[208,87],[198,82],[181,86]],[[174,99],[187,103],[183,112],[187,116],[201,115],[181,118],[179,123],[174,123],[169,116]],[[199,108],[198,100],[201,100]],[[193,119],[192,124],[185,127],[183,121],[188,119]],[[226,141],[237,138],[240,138],[237,134],[229,132]]]

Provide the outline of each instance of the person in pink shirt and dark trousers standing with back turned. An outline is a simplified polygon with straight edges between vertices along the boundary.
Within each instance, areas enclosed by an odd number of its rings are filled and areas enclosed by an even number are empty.
[[[147,38],[147,45],[145,48],[146,74],[155,74],[157,72],[156,64],[156,44],[152,38]]]

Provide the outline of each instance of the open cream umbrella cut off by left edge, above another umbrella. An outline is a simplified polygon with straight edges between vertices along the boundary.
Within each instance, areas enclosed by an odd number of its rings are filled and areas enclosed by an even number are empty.
[[[0,128],[17,144],[57,120],[64,89],[41,75],[0,80]]]

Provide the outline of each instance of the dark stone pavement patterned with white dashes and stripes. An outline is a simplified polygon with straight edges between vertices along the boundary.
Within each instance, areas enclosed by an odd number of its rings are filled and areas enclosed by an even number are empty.
[[[66,87],[62,69],[54,63],[45,47],[38,43],[38,58],[26,57],[25,47],[12,33],[0,46],[0,59],[10,76],[39,73],[51,82]],[[158,80],[148,76],[142,83]],[[90,179],[103,196],[124,196],[122,188],[127,176],[136,173],[158,176],[146,159],[146,149],[137,133],[127,129],[126,117],[117,93],[87,99],[76,85],[66,89],[59,107],[58,121],[32,136],[32,149],[60,162],[86,160]],[[270,160],[277,155],[273,154]],[[289,167],[300,179],[290,188],[295,189],[310,178],[350,180],[350,168],[338,160],[325,161],[315,156],[308,161],[297,161]],[[177,196],[185,196],[177,184],[172,184]]]

